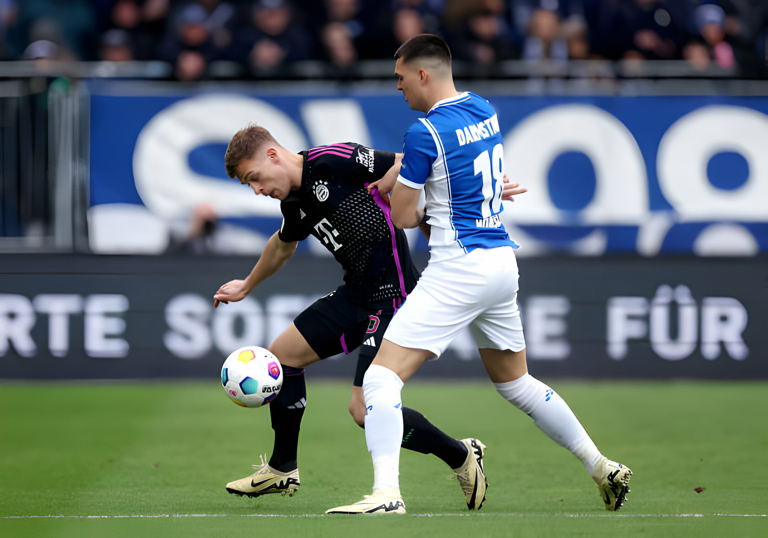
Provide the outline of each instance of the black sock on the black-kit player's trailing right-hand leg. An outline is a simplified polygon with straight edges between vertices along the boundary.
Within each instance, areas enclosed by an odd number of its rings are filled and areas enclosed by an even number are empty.
[[[402,408],[402,444],[409,451],[435,454],[452,469],[462,467],[467,460],[467,447],[432,425],[424,415],[411,408]]]

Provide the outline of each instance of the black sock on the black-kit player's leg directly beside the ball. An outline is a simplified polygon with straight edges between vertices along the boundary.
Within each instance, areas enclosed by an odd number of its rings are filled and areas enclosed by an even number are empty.
[[[304,369],[283,366],[283,387],[277,398],[270,401],[275,446],[270,467],[282,473],[296,469],[296,449],[299,447],[299,428],[306,406]]]

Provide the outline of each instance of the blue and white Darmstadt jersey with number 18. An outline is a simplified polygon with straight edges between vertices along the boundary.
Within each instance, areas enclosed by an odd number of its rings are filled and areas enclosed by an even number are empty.
[[[397,179],[425,190],[430,261],[517,248],[499,218],[504,147],[488,101],[469,92],[439,101],[409,128],[403,152]]]

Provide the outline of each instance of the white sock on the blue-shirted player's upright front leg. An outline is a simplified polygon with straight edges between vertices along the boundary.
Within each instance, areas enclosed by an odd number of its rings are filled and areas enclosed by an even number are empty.
[[[400,487],[402,381],[389,368],[370,365],[362,380],[366,399],[366,442],[373,459],[373,489]]]

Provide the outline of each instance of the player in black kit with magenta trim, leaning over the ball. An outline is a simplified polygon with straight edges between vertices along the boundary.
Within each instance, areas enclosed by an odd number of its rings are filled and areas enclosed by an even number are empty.
[[[368,188],[385,174],[396,176],[401,159],[402,154],[351,142],[292,153],[269,131],[256,126],[240,130],[230,141],[227,174],[257,194],[282,200],[283,225],[266,243],[250,275],[221,286],[214,305],[243,299],[280,269],[293,256],[296,243],[310,234],[342,265],[345,282],[296,316],[270,345],[284,372],[280,394],[270,402],[275,431],[272,457],[254,465],[255,474],[227,484],[230,493],[257,497],[293,495],[298,490],[296,448],[306,406],[303,368],[332,355],[348,354],[360,345],[349,413],[365,427],[363,375],[392,315],[418,279],[405,233],[392,226],[388,201],[376,188]],[[454,470],[469,509],[479,509],[484,498],[475,498],[477,481],[487,485],[480,442],[449,437],[413,409],[402,408],[402,416],[402,447],[445,461]]]

